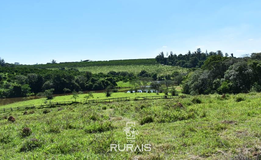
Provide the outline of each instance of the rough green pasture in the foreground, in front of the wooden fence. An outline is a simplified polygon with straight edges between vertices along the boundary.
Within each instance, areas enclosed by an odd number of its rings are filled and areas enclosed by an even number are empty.
[[[1,113],[1,117],[13,116],[16,121],[0,120],[0,157],[254,159],[261,150],[260,100],[260,93],[227,95],[224,99],[220,95],[186,96],[73,104],[28,110],[27,115],[23,115],[24,111]],[[110,144],[127,143],[123,132],[126,122],[136,123],[139,134],[134,146],[151,144],[151,151],[110,151]],[[29,127],[31,132],[23,133],[24,127]]]

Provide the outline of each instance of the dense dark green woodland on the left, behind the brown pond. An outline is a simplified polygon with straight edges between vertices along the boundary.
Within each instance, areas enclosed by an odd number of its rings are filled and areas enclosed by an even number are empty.
[[[128,72],[92,74],[75,70],[0,67],[0,98],[24,97],[48,90],[56,94],[74,90],[102,90],[115,88],[116,82],[127,82],[133,78],[135,75]]]

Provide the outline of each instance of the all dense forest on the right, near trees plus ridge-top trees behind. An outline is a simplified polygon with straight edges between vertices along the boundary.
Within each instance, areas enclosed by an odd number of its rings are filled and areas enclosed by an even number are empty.
[[[161,52],[156,61],[173,66],[194,68],[184,77],[182,92],[191,95],[213,93],[246,93],[261,91],[261,53],[236,58],[221,50],[203,53],[201,49],[187,54]]]

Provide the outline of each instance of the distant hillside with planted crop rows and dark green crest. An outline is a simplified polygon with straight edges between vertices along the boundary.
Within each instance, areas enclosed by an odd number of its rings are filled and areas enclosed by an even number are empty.
[[[158,75],[166,75],[173,73],[173,71],[179,71],[180,73],[186,73],[188,71],[187,68],[161,65],[156,62],[155,58],[88,62],[61,62],[54,64],[18,65],[18,67],[42,68],[52,70],[70,70],[71,68],[73,68],[77,69],[78,71],[90,71],[93,74],[107,74],[109,71],[127,71],[137,75],[140,71],[145,70],[148,71],[148,73],[158,73]]]

